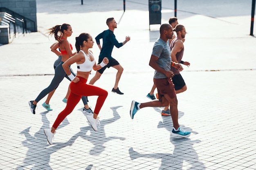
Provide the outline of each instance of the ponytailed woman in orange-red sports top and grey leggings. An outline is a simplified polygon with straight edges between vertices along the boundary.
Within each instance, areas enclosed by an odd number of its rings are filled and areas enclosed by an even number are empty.
[[[73,33],[72,27],[70,24],[62,24],[62,25],[56,25],[48,30],[49,35],[54,35],[55,40],[57,40],[60,52],[57,51],[57,48],[52,48],[52,51],[56,53],[57,55],[61,55],[61,63],[58,64],[55,68],[55,74],[52,79],[51,84],[45,88],[41,93],[36,97],[35,100],[29,101],[29,107],[33,114],[36,114],[36,104],[43,99],[48,93],[52,92],[54,89],[57,88],[57,86],[61,83],[61,81],[66,76],[66,73],[62,67],[62,64],[76,54],[72,53],[72,45],[67,41],[67,37],[70,37]],[[72,72],[72,74],[75,76],[75,73]],[[70,79],[69,79],[70,80]],[[71,80],[70,80],[71,81]],[[87,98],[82,97],[84,105],[87,105]]]

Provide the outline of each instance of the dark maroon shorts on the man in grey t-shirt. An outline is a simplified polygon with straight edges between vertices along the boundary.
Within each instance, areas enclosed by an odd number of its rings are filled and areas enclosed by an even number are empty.
[[[158,99],[160,100],[164,94],[167,94],[171,99],[176,97],[176,92],[174,89],[174,84],[172,79],[154,79],[154,84],[157,87]]]

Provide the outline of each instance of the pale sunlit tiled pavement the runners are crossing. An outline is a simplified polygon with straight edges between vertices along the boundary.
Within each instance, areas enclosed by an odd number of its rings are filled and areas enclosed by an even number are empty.
[[[70,37],[72,44],[74,37],[81,32],[89,32],[95,37],[107,29],[104,24],[106,17],[118,18],[117,39],[124,40],[126,35],[132,38],[124,47],[113,51],[113,56],[124,67],[119,88],[125,94],[111,93],[116,72],[108,69],[95,83],[109,92],[100,113],[101,128],[97,132],[92,130],[81,112],[83,104],[80,102],[58,128],[54,144],[49,145],[43,128],[51,127],[65,107],[61,100],[69,82],[64,79],[52,97],[53,111],[45,112],[41,106],[44,100],[41,100],[36,115],[33,115],[27,102],[48,86],[53,77],[52,64],[56,57],[49,51],[49,46],[54,40],[41,33],[30,33],[0,46],[1,170],[256,169],[256,39],[247,35],[249,14],[238,11],[239,15],[228,15],[238,6],[242,9],[250,7],[250,1],[244,1],[244,5],[235,1],[234,7],[219,12],[218,18],[205,16],[207,9],[202,4],[198,8],[205,11],[198,13],[205,15],[178,13],[178,17],[181,15],[179,22],[188,31],[184,59],[191,62],[191,67],[182,72],[188,90],[177,95],[180,126],[192,132],[184,139],[171,136],[171,117],[162,117],[162,108],[143,108],[133,120],[129,116],[133,99],[149,101],[146,94],[153,83],[153,69],[148,66],[148,61],[158,31],[148,31],[147,8],[141,10],[136,8],[139,5],[127,1],[124,15],[115,10],[118,8],[116,4],[113,6],[115,11],[86,13],[82,12],[80,4],[65,4],[69,8],[64,10],[64,4],[44,2],[37,4],[39,31],[68,22],[74,31]],[[83,7],[92,9],[85,2]],[[95,0],[94,6],[98,2]],[[49,9],[44,6],[47,3]],[[129,9],[129,4],[134,5],[135,10]],[[142,4],[147,4],[147,1],[141,0]],[[50,13],[56,5],[63,10]],[[215,5],[221,6],[221,3]],[[189,11],[189,6],[191,4],[180,1],[182,9]],[[77,13],[70,12],[74,9]],[[162,23],[168,22],[167,15],[173,14],[171,9],[162,12]],[[85,19],[77,21],[78,15]],[[140,22],[134,23],[132,16]],[[202,24],[195,25],[195,22]],[[96,23],[99,26],[83,29],[83,26]],[[94,45],[92,50],[97,58],[97,46]],[[89,97],[92,108],[95,101],[95,97]]]

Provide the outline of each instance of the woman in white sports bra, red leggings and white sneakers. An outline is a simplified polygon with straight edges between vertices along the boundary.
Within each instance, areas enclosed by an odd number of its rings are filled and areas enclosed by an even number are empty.
[[[55,130],[61,124],[61,122],[69,115],[78,104],[82,96],[99,96],[95,106],[93,115],[87,116],[88,121],[90,122],[93,130],[97,131],[97,126],[100,125],[98,114],[105,102],[105,99],[108,96],[108,92],[102,88],[93,86],[91,84],[86,84],[88,76],[92,69],[95,71],[106,66],[108,64],[108,58],[104,58],[101,64],[96,64],[92,51],[89,49],[92,48],[94,41],[92,36],[88,33],[81,33],[79,37],[76,37],[76,50],[77,54],[70,57],[66,62],[62,64],[64,71],[67,73],[68,77],[72,80],[70,83],[70,95],[67,100],[67,106],[65,109],[59,113],[57,119],[55,120],[52,128],[44,129],[47,141],[49,144],[52,144],[52,139]],[[76,62],[77,65],[77,74],[76,77],[71,74],[69,66]]]

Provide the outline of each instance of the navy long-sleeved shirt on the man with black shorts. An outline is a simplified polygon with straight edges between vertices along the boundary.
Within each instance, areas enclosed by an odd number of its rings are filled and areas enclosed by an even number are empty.
[[[116,46],[117,48],[120,48],[121,46],[123,46],[123,43],[119,43],[116,39],[116,36],[114,35],[114,32],[111,31],[110,29],[103,31],[102,33],[100,33],[99,35],[97,35],[97,37],[95,37],[95,40],[97,42],[97,44],[100,44],[100,39],[103,40],[103,44],[102,44],[102,48],[101,48],[101,52],[99,54],[99,58],[104,58],[107,57],[108,60],[112,59],[111,53],[112,50],[114,48],[114,46]]]

